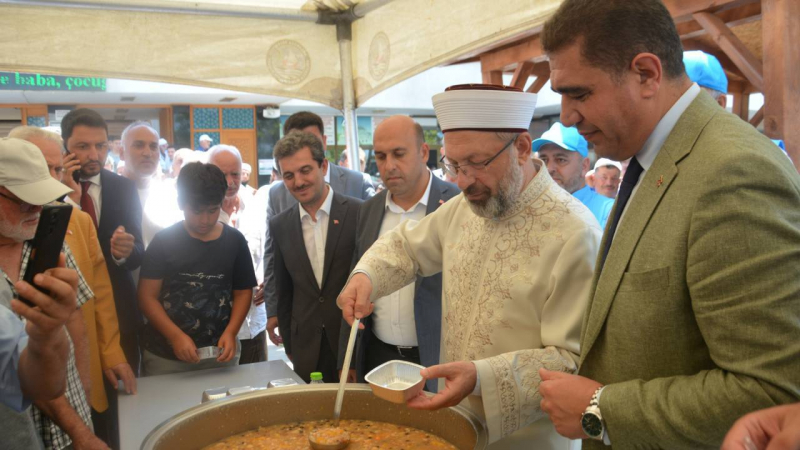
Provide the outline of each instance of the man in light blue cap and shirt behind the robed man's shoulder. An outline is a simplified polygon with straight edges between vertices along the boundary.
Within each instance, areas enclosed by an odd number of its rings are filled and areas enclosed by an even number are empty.
[[[586,185],[585,176],[590,167],[589,147],[578,130],[556,122],[541,138],[533,141],[532,148],[547,165],[553,181],[586,205],[600,222],[600,227],[605,228],[614,199],[600,195]]]

